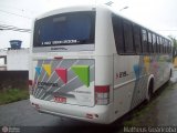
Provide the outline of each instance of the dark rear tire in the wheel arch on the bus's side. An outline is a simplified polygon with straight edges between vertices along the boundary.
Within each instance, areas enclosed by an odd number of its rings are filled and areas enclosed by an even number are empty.
[[[150,79],[147,88],[147,94],[146,94],[146,103],[148,103],[153,98],[153,90],[154,90],[154,80]]]

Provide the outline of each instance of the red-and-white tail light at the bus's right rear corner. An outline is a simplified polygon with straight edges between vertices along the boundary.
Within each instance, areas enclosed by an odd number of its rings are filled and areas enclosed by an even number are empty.
[[[110,85],[95,85],[95,103],[97,105],[110,103]]]

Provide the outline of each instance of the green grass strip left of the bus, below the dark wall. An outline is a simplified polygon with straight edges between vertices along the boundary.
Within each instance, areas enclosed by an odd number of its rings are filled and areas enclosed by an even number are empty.
[[[9,89],[0,92],[0,105],[25,100],[29,98],[29,91],[25,89]]]

